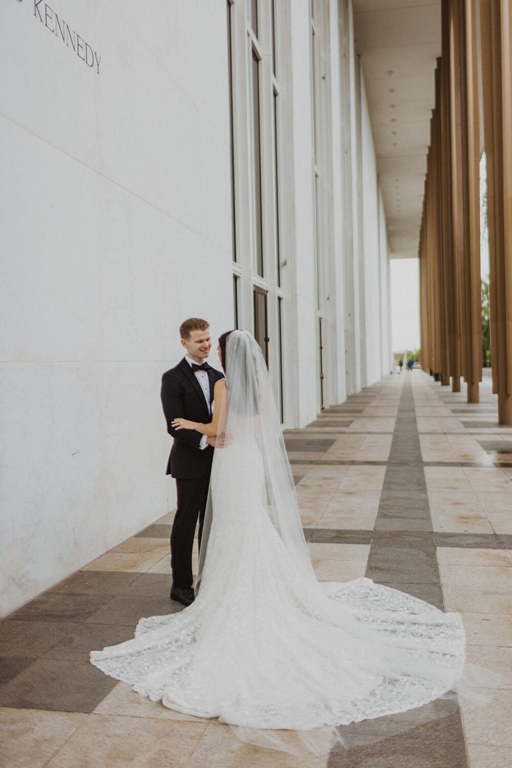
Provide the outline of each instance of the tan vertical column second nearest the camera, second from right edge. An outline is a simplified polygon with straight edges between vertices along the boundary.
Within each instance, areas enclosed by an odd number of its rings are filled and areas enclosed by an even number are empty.
[[[474,3],[471,5],[474,6]],[[481,381],[480,196],[476,38],[466,0],[450,0],[451,171],[454,259],[457,263],[462,371],[467,402],[478,402]],[[471,35],[467,45],[467,35]]]

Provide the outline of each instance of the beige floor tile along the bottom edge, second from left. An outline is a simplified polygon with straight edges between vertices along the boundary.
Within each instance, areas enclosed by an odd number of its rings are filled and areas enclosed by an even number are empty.
[[[93,714],[48,768],[185,768],[206,723]]]

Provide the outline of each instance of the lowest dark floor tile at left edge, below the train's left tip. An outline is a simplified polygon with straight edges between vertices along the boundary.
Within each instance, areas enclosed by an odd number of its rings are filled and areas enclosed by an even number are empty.
[[[0,707],[91,712],[115,684],[89,661],[37,659],[0,688]]]

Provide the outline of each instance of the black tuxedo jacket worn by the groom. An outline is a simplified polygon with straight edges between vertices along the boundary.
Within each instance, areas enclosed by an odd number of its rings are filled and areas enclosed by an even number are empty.
[[[214,368],[208,371],[210,399],[213,399],[215,382],[223,377],[223,373]],[[167,475],[182,480],[203,477],[206,472],[210,472],[212,446],[208,445],[202,451],[199,444],[203,435],[200,432],[192,429],[176,430],[171,424],[173,419],[190,419],[201,424],[209,424],[212,420],[200,383],[185,358],[162,376],[161,398],[167,420],[167,432],[174,438],[167,463]]]

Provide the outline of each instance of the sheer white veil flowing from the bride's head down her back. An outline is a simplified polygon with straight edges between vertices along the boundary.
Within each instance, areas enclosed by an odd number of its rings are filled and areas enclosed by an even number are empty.
[[[226,371],[226,399],[216,403],[222,409],[219,425],[224,444],[256,448],[262,462],[261,495],[263,507],[285,545],[290,558],[304,573],[309,572],[316,581],[297,502],[295,482],[279,415],[274,401],[269,372],[259,344],[247,331],[231,331],[226,335],[226,351],[223,366]],[[213,473],[223,474],[223,464],[230,462],[231,452],[216,449]],[[206,558],[208,538],[212,522],[212,493],[206,505],[201,540],[200,560],[196,580],[199,589]]]

